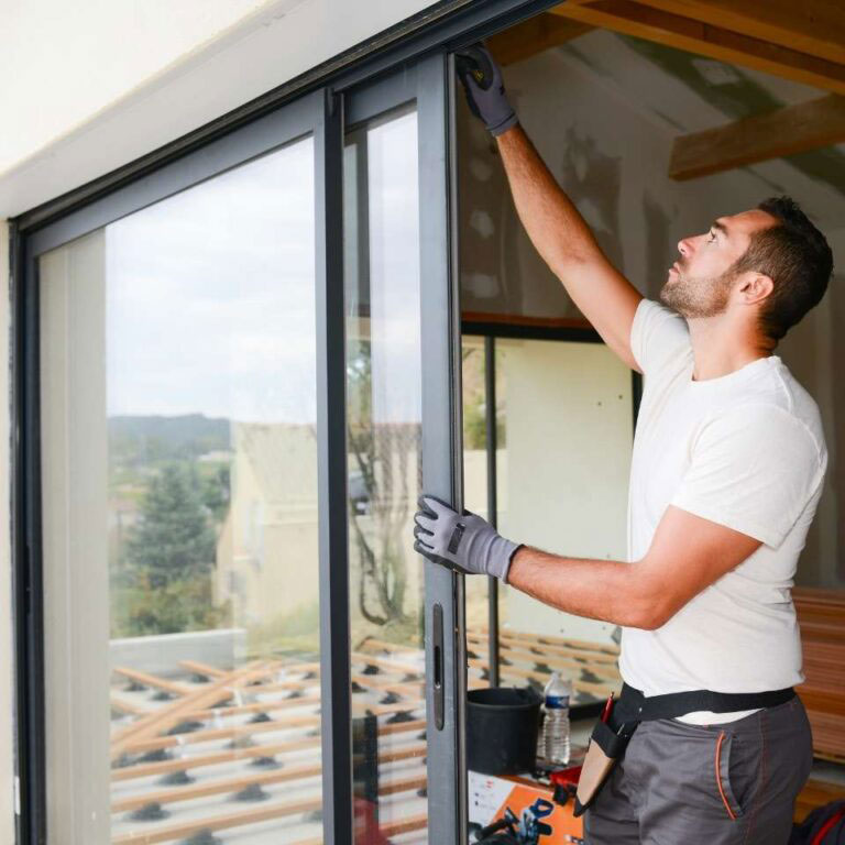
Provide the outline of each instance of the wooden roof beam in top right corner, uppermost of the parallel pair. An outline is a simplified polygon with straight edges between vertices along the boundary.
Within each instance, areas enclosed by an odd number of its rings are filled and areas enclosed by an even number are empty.
[[[665,12],[845,64],[845,14],[833,0],[637,0]]]

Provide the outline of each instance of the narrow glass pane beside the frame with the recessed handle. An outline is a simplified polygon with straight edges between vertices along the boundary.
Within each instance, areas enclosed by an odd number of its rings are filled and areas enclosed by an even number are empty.
[[[354,837],[425,843],[416,112],[351,132],[344,180]]]

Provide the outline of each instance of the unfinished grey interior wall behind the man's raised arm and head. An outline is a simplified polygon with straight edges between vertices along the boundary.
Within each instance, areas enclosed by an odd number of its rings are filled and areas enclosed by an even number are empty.
[[[690,182],[669,179],[673,134],[667,122],[561,48],[508,65],[504,75],[511,101],[540,155],[608,257],[649,298],[657,298],[681,238],[775,193],[770,180],[749,168]],[[472,118],[463,97],[459,109],[459,161],[465,163],[459,176],[464,311],[580,316],[517,218],[495,142]],[[842,264],[837,255],[845,256],[844,230],[826,234],[834,262]],[[838,277],[776,352],[819,403],[830,452],[825,491],[797,581],[831,588],[845,586],[845,501],[837,495],[845,459],[836,453],[845,398],[834,388],[834,362],[845,343],[834,327],[843,310]]]

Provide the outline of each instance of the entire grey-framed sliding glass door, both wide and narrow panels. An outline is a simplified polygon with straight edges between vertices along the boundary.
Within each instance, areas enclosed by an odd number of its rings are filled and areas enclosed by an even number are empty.
[[[458,845],[445,53],[23,241],[22,841]]]

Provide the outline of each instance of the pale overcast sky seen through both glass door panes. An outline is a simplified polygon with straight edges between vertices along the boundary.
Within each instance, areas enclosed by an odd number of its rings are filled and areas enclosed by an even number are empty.
[[[374,413],[418,419],[415,116],[369,143]],[[109,224],[109,415],[312,422],[314,254],[310,139]]]

